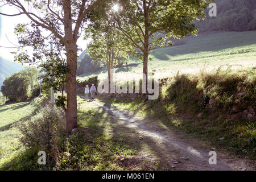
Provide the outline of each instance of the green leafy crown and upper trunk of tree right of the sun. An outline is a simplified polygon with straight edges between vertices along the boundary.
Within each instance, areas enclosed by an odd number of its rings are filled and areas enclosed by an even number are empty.
[[[209,1],[191,0],[121,0],[120,9],[112,14],[124,39],[130,42],[136,54],[143,60],[146,75],[148,54],[155,46],[171,44],[169,38],[196,35],[195,20],[205,18],[204,10]],[[158,34],[164,36],[157,36]]]

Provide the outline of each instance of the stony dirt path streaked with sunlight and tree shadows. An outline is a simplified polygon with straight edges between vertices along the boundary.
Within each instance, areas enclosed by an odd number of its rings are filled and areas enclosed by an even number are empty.
[[[84,98],[83,96],[80,96]],[[222,154],[217,151],[217,164],[209,164],[209,149],[200,147],[199,143],[184,143],[181,139],[177,138],[170,129],[160,128],[156,122],[148,124],[143,121],[143,118],[136,117],[135,115],[128,117],[120,111],[113,109],[111,103],[101,104],[100,102],[93,101],[94,104],[108,111],[108,114],[113,115],[113,130],[118,133],[123,127],[126,135],[135,132],[139,135],[137,138],[131,136],[135,142],[148,143],[154,155],[150,158],[160,159],[163,169],[168,170],[241,170],[241,168],[251,169],[246,166],[242,160],[238,163],[233,163],[232,158],[228,155]],[[106,106],[108,105],[108,106]],[[111,108],[111,109],[110,109]],[[114,127],[115,126],[115,127]],[[138,139],[139,138],[139,139]],[[196,146],[196,147],[195,147]]]

